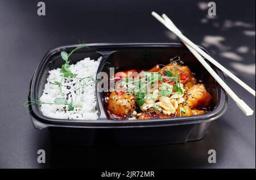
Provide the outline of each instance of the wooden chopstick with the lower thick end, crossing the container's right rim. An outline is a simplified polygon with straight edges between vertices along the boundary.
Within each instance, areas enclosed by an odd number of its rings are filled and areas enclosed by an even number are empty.
[[[172,23],[171,19],[167,17],[167,15],[163,15],[163,18],[156,14],[155,12],[152,12],[152,15],[158,19],[161,23],[164,24],[169,30],[174,32],[177,36],[181,36],[182,33],[180,30],[175,26],[174,23]],[[183,35],[184,36],[184,35]],[[181,38],[180,38],[181,39]],[[186,37],[187,39],[187,37]],[[216,72],[210,67],[210,65],[204,60],[203,57],[199,54],[199,52],[196,51],[195,48],[193,48],[186,39],[182,38],[181,40],[183,43],[187,46],[189,51],[193,53],[193,55],[199,60],[199,62],[204,66],[205,69],[208,70],[208,72],[213,76],[214,79],[221,85],[221,87],[230,95],[230,97],[236,102],[237,106],[240,107],[240,109],[245,113],[245,115],[250,116],[253,115],[254,111],[244,102],[242,99],[240,99],[233,91],[230,89],[228,85],[218,76]],[[196,46],[197,47],[197,46]],[[200,49],[200,48],[199,48]]]

